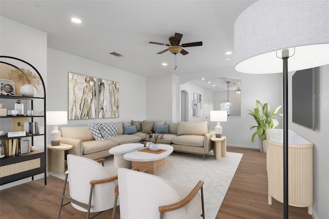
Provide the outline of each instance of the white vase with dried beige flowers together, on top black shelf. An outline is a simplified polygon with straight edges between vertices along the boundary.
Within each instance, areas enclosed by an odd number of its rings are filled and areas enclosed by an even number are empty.
[[[20,88],[20,93],[23,96],[35,96],[36,91],[39,92],[38,87],[40,82],[40,77],[34,73],[32,73],[28,69],[13,69],[11,70],[11,77],[14,79],[14,81],[20,82],[24,84]]]

